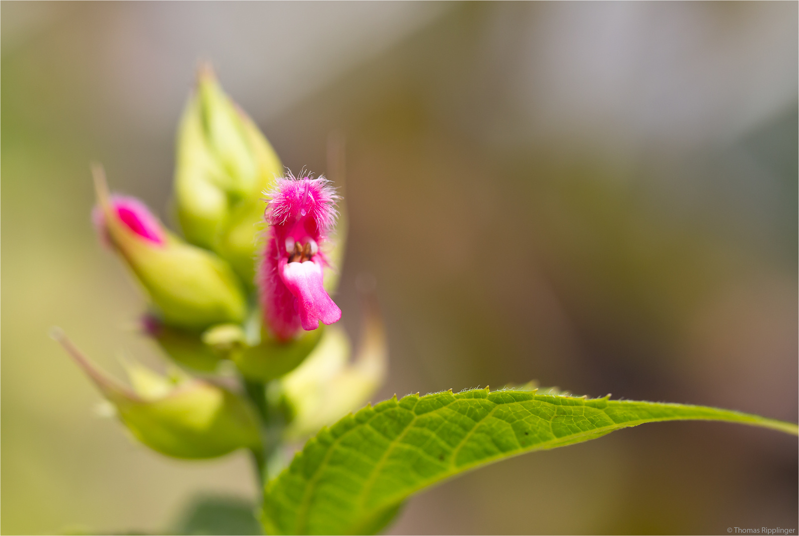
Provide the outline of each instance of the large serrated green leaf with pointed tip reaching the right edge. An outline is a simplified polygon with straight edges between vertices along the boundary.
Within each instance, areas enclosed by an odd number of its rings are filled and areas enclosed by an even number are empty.
[[[306,443],[264,493],[270,534],[367,534],[408,495],[466,470],[625,427],[718,420],[799,435],[796,424],[684,404],[488,388],[407,395],[348,415]]]

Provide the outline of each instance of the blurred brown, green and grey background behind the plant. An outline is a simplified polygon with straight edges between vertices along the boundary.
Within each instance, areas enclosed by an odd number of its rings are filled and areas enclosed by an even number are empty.
[[[538,379],[797,421],[797,3],[2,2],[3,534],[166,530],[255,496],[166,459],[47,337],[163,358],[89,221],[89,161],[171,221],[197,60],[291,169],[348,140],[353,335],[372,272],[394,393]],[[392,534],[797,526],[797,439],[647,425],[411,498]]]

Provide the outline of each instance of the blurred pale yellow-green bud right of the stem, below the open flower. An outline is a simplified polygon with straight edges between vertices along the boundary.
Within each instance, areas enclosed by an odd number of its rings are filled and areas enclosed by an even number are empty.
[[[376,308],[369,308],[358,353],[349,363],[349,339],[336,326],[328,327],[319,345],[299,367],[282,379],[284,398],[294,419],[286,439],[302,439],[355,411],[372,396],[386,374],[388,344]]]

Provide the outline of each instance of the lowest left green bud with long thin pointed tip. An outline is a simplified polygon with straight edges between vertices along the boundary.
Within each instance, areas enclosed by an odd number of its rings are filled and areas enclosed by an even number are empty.
[[[227,389],[200,379],[166,379],[141,365],[128,364],[133,389],[101,372],[63,335],[52,333],[133,436],[175,458],[215,458],[238,448],[260,449],[252,407]]]

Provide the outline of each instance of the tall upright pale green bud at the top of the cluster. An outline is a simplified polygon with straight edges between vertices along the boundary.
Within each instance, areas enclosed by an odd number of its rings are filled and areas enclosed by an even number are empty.
[[[189,242],[212,249],[252,284],[261,193],[282,166],[263,134],[202,66],[177,139],[177,216]]]

